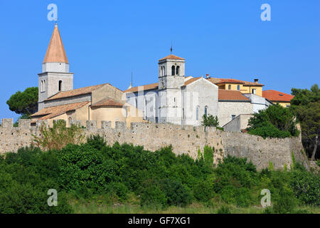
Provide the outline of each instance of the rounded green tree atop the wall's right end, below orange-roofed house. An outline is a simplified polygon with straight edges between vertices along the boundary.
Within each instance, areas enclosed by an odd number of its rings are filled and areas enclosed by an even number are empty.
[[[279,104],[271,105],[259,113],[253,114],[248,122],[248,133],[263,138],[287,138],[299,135],[294,114]]]

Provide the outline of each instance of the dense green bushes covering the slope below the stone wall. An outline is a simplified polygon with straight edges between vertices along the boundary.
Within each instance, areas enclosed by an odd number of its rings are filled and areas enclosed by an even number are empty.
[[[61,150],[21,148],[0,157],[0,213],[83,212],[80,204],[132,206],[134,212],[171,212],[177,207],[195,213],[197,209],[190,209],[194,205],[216,208],[210,212],[252,207],[262,212],[262,189],[271,192],[272,207],[265,213],[318,211],[319,175],[299,164],[287,171],[270,167],[258,172],[251,162],[237,157],[226,157],[213,167],[210,147],[203,155],[193,160],[174,155],[171,147],[151,152],[127,144],[107,146],[98,136]],[[58,191],[57,207],[48,207],[49,189]]]

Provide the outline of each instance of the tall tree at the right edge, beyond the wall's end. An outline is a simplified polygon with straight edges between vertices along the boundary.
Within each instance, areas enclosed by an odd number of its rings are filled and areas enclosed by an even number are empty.
[[[297,115],[302,128],[302,143],[312,145],[311,160],[316,157],[320,135],[320,90],[315,84],[311,89],[292,88],[290,109]]]

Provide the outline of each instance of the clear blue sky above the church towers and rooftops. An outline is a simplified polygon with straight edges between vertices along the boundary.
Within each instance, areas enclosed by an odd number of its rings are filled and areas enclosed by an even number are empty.
[[[264,89],[290,93],[320,82],[319,0],[4,1],[0,0],[0,118],[17,118],[6,100],[38,86],[58,26],[74,88],[111,83],[122,90],[157,81],[157,61],[186,58],[186,76],[259,78]],[[262,4],[272,21],[262,21]]]

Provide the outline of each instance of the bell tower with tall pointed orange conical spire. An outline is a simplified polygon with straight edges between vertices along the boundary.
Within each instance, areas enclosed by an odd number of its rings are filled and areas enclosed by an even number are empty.
[[[69,62],[57,24],[42,63],[42,73],[38,76],[38,110],[46,108],[44,100],[50,96],[73,90],[73,73],[69,72]]]

